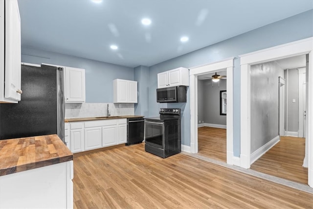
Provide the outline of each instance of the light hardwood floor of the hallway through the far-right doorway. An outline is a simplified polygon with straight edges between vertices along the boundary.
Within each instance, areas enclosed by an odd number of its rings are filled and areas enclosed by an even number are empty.
[[[251,165],[251,169],[307,185],[308,168],[302,166],[304,155],[305,138],[281,137],[275,146]]]

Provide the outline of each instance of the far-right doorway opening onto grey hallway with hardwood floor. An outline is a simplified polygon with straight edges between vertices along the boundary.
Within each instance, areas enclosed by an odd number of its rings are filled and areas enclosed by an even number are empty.
[[[250,79],[253,83],[250,86],[251,156],[254,157],[257,152],[255,147],[265,147],[261,149],[262,156],[255,162],[252,157],[251,169],[307,185],[308,169],[302,166],[305,157],[305,139],[301,135],[303,124],[298,120],[302,115],[301,100],[305,100],[301,99],[303,82],[300,82],[300,85],[298,81],[302,81],[301,77],[305,78],[305,75],[302,75],[305,74],[305,66],[305,54],[250,66]],[[304,67],[304,70],[299,70],[300,67]],[[259,83],[255,82],[255,79]],[[257,104],[254,100],[257,100]],[[278,110],[276,106],[279,106]],[[262,124],[256,125],[256,121],[262,121]],[[264,142],[265,139],[269,140],[268,143]],[[271,139],[275,143],[271,143]]]

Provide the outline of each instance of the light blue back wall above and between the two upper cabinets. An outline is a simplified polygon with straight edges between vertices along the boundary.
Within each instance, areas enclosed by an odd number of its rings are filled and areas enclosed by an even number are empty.
[[[22,47],[22,62],[82,68],[86,72],[86,102],[112,103],[113,80],[134,80],[134,69],[65,54]]]

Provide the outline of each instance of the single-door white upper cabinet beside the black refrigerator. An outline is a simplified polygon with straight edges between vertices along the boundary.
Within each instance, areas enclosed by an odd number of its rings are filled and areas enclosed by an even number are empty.
[[[65,102],[86,101],[85,69],[65,67]]]

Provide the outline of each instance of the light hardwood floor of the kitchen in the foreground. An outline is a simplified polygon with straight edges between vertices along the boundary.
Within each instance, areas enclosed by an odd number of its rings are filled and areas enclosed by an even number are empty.
[[[144,143],[74,157],[74,208],[313,208],[313,194]]]

